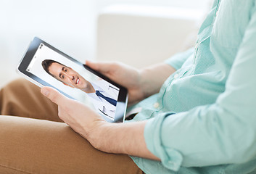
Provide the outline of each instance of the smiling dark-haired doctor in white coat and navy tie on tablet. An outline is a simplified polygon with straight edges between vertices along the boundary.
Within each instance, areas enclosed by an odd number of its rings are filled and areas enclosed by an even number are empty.
[[[91,97],[94,107],[102,115],[110,117],[112,120],[115,119],[115,109],[119,92],[115,86],[111,86],[104,80],[99,80],[96,83],[88,82],[71,67],[62,65],[52,59],[45,59],[42,62],[42,66],[49,75],[61,81],[66,86],[84,91]]]

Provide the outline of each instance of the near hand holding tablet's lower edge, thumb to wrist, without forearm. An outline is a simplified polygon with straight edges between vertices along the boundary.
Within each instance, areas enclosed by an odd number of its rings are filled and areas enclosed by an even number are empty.
[[[54,88],[41,88],[41,93],[58,105],[59,118],[88,141],[93,138],[91,136],[94,129],[108,124],[94,110],[79,101],[68,99]]]

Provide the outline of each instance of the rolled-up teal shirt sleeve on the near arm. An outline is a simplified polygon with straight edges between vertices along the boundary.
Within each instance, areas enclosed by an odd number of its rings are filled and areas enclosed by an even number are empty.
[[[175,115],[163,113],[146,123],[149,151],[171,170],[244,163],[256,158],[256,12],[214,104]]]

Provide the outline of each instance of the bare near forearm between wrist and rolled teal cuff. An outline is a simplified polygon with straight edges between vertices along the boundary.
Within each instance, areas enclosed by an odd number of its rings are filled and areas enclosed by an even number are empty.
[[[136,123],[104,123],[91,131],[88,141],[99,150],[115,154],[160,160],[146,148],[146,121]]]

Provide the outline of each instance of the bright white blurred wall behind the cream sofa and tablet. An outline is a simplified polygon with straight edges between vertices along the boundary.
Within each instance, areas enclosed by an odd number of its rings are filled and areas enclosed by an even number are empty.
[[[205,8],[206,0],[0,0],[0,86],[34,36],[83,62],[94,59],[96,14],[110,4]]]

